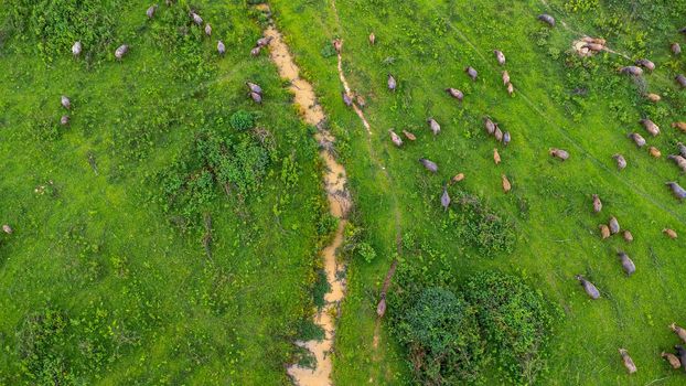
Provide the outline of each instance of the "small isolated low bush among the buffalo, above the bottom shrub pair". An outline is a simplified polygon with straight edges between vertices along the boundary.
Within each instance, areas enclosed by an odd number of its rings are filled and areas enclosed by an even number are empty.
[[[462,191],[453,202],[459,210],[450,211],[450,222],[461,240],[486,257],[512,253],[516,238],[511,222],[485,206],[479,197]]]

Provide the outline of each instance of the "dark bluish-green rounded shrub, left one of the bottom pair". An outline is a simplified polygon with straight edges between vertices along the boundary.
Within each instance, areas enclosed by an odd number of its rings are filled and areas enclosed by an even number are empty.
[[[407,347],[415,380],[421,385],[458,385],[479,379],[485,356],[472,308],[452,291],[427,288],[407,298],[395,325]]]

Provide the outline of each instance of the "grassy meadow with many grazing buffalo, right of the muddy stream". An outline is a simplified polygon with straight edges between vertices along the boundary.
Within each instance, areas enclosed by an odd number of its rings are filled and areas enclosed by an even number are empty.
[[[308,78],[330,114],[330,126],[354,192],[354,222],[364,228],[376,258],[353,257],[350,291],[336,336],[334,380],[340,385],[405,384],[411,379],[403,347],[382,323],[380,343],[373,337],[376,303],[394,258],[400,267],[425,272],[427,280],[464,281],[485,269],[523,276],[561,310],[546,347],[547,371],[540,384],[682,384],[660,353],[678,343],[667,325],[686,323],[680,278],[684,242],[668,239],[665,227],[686,230],[684,206],[664,185],[686,180],[665,159],[686,139],[671,122],[686,120],[686,92],[674,82],[686,72],[671,42],[686,44],[683,1],[280,1],[271,2],[282,30]],[[553,14],[557,26],[536,20]],[[561,21],[565,21],[562,25]],[[371,46],[368,34],[376,44]],[[629,58],[603,52],[589,58],[570,53],[572,41],[588,34]],[[343,40],[343,68],[351,87],[366,98],[367,136],[341,100],[336,57],[328,50]],[[493,50],[505,53],[499,66]],[[634,82],[618,69],[633,60],[656,63],[653,74]],[[472,82],[463,72],[479,71]],[[501,81],[507,69],[515,87],[510,97]],[[386,76],[398,81],[395,93]],[[463,103],[446,87],[464,92]],[[644,90],[662,101],[651,104]],[[503,148],[483,130],[492,117],[512,142]],[[426,119],[442,126],[439,136]],[[639,125],[650,117],[662,135],[653,138]],[[412,131],[416,142],[393,146],[387,130]],[[642,133],[663,157],[637,149],[629,132]],[[493,148],[503,162],[495,165]],[[549,148],[570,152],[566,162]],[[619,171],[612,156],[629,167]],[[417,160],[437,162],[436,175]],[[449,187],[453,197],[468,192],[510,224],[516,235],[512,251],[483,256],[459,228],[459,210],[440,207],[443,184],[458,172],[467,178]],[[501,174],[513,184],[501,187]],[[591,194],[603,200],[593,214]],[[634,242],[620,236],[601,240],[598,225],[617,216]],[[398,235],[401,239],[398,243]],[[398,247],[399,245],[399,247]],[[626,251],[637,271],[628,278],[615,257]],[[601,291],[591,301],[575,275],[582,274]],[[392,287],[392,291],[393,291]],[[395,288],[395,290],[401,290]],[[639,373],[628,375],[618,349],[629,350]],[[497,347],[493,347],[497,350]],[[486,369],[492,383],[504,382],[497,366]]]

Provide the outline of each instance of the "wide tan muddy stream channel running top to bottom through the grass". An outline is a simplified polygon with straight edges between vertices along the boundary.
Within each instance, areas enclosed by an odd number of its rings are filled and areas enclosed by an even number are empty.
[[[269,7],[266,4],[261,4],[258,9],[269,12]],[[324,270],[331,290],[324,296],[325,305],[315,313],[314,322],[324,330],[324,339],[322,341],[296,342],[296,344],[309,350],[314,355],[317,365],[312,369],[293,364],[288,366],[287,373],[300,386],[331,385],[331,352],[335,337],[335,318],[339,305],[345,297],[345,283],[337,275],[340,270],[336,262],[336,250],[343,244],[347,213],[352,205],[350,192],[346,187],[347,178],[345,168],[333,156],[332,150],[335,138],[329,130],[324,129],[323,122],[326,120],[326,116],[317,101],[314,88],[309,82],[300,77],[300,69],[293,62],[290,50],[283,42],[283,36],[271,20],[264,34],[266,37],[271,37],[269,43],[270,58],[276,64],[281,78],[290,82],[289,89],[294,95],[294,104],[303,109],[304,121],[318,128],[315,139],[321,147],[320,157],[325,164],[324,185],[326,196],[331,214],[339,219],[339,227],[333,242],[322,250]]]

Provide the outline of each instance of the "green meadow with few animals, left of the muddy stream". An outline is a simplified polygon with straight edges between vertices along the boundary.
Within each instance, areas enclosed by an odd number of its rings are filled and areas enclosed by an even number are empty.
[[[244,1],[149,6],[0,7],[0,384],[286,384],[312,333],[335,224],[312,129],[249,55],[262,25]],[[217,143],[226,185],[203,153]]]

